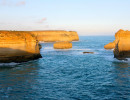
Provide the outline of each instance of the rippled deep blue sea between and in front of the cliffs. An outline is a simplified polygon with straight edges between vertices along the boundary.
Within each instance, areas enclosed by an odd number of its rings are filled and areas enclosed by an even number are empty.
[[[0,64],[0,100],[130,100],[130,60],[104,49],[113,40],[82,36],[69,50],[41,43],[42,58]]]

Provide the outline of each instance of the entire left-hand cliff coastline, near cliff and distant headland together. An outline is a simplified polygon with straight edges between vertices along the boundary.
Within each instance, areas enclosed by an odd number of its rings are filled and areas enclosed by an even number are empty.
[[[0,31],[0,63],[26,62],[41,58],[42,42],[78,41],[74,31]]]

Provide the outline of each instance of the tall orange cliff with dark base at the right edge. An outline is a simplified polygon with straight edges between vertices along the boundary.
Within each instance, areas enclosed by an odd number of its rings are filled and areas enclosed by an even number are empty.
[[[119,30],[115,38],[114,57],[130,58],[130,31]]]

